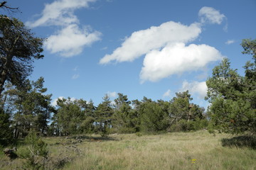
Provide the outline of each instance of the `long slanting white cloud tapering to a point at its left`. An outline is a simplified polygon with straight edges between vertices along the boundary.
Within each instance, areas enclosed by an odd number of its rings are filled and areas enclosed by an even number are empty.
[[[173,42],[189,42],[195,40],[201,33],[197,23],[190,26],[169,21],[161,26],[152,26],[146,30],[139,30],[124,40],[111,55],[105,55],[100,64],[107,64],[113,60],[117,62],[132,62],[151,50],[159,49]]]

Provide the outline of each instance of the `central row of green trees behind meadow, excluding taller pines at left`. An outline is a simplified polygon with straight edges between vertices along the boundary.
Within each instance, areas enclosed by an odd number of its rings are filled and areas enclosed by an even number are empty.
[[[118,94],[112,103],[106,95],[97,107],[92,101],[58,99],[51,134],[198,130],[203,128],[201,120],[206,125],[204,109],[190,101],[188,91],[177,93],[171,101],[152,101],[146,97],[129,101],[127,96]]]

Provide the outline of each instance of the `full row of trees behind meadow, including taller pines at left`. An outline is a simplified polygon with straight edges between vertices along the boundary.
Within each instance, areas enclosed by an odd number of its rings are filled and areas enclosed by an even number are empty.
[[[95,106],[83,99],[58,98],[57,106],[50,105],[51,95],[45,94],[43,78],[26,81],[26,86],[6,84],[2,108],[6,113],[10,134],[25,137],[35,130],[42,135],[73,135],[96,132],[160,132],[198,130],[206,127],[204,108],[191,103],[188,91],[176,93],[171,101],[129,101],[118,94],[114,101],[106,95]]]

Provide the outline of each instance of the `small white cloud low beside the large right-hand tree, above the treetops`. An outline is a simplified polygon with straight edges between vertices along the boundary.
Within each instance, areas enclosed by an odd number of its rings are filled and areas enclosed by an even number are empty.
[[[188,83],[188,81],[183,81],[182,89],[180,91],[189,91],[190,94],[197,94],[199,98],[204,98],[207,94],[206,81],[198,82],[193,81]]]

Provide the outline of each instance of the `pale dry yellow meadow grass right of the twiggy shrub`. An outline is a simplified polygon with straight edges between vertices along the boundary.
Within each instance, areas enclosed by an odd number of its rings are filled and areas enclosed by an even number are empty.
[[[228,135],[208,132],[115,135],[83,142],[82,156],[65,169],[256,169],[256,151],[222,147]]]

